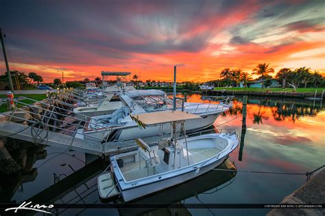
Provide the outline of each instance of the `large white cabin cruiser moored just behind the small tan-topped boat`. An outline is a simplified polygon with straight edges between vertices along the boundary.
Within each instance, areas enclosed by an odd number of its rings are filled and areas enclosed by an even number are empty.
[[[168,134],[169,125],[160,130],[160,126],[147,129],[139,128],[130,114],[152,113],[173,109],[173,100],[160,90],[136,90],[119,94],[123,106],[112,113],[93,116],[87,120],[84,129],[84,138],[91,141],[105,139],[106,141],[123,141],[143,137],[152,137],[160,133]],[[108,103],[107,107],[110,106]],[[180,103],[176,102],[176,110],[186,111],[200,116],[200,120],[187,120],[186,131],[193,133],[211,126],[218,116],[229,109],[225,103]],[[102,109],[106,110],[106,109]]]

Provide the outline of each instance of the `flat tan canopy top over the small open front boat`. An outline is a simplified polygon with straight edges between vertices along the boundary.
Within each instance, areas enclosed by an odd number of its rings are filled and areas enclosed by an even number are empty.
[[[165,124],[168,122],[197,119],[201,117],[184,111],[156,111],[153,113],[131,115],[131,118],[140,125],[149,126],[154,124]]]

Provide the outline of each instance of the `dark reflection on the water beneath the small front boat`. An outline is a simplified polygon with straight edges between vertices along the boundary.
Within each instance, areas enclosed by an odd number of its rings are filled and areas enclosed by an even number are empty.
[[[229,158],[216,168],[219,170],[211,170],[206,174],[187,181],[186,183],[132,201],[132,204],[142,204],[143,208],[119,208],[118,211],[120,215],[143,215],[145,213],[156,213],[157,209],[168,209],[170,205],[174,204],[180,204],[180,208],[182,208],[181,203],[183,200],[188,198],[196,198],[199,200],[200,196],[204,194],[218,194],[219,191],[234,182],[237,172],[234,163],[232,163]],[[99,200],[102,203],[114,200],[117,204],[123,204],[123,199],[112,198]],[[146,205],[148,203],[150,204],[149,206]],[[171,209],[173,211],[177,210],[175,208]],[[184,208],[182,208],[182,210],[184,210]]]

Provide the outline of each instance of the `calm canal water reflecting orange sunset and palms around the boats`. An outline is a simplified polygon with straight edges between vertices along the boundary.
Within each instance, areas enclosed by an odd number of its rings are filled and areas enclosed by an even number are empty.
[[[208,102],[199,94],[188,96],[189,102]],[[249,98],[247,110],[246,131],[241,129],[241,98],[235,98],[234,107],[214,124],[216,131],[237,131],[244,136],[241,148],[230,154],[230,159],[222,165],[224,169],[305,173],[324,164],[325,111],[319,101],[314,104],[309,100]],[[96,177],[104,170],[104,165],[86,166],[91,157],[44,146],[16,150],[12,156],[25,169],[10,178],[1,177],[0,202],[23,202],[37,195],[43,202],[56,204],[101,204]],[[74,172],[80,169],[84,170],[82,175],[76,176]],[[58,186],[59,179],[64,184]],[[138,202],[202,206],[200,209],[165,207],[151,210],[163,215],[174,211],[182,215],[265,215],[268,209],[209,209],[205,204],[278,203],[305,181],[306,176],[212,171]],[[50,192],[42,192],[50,186]],[[148,211],[80,208],[59,209],[56,213],[134,215]]]

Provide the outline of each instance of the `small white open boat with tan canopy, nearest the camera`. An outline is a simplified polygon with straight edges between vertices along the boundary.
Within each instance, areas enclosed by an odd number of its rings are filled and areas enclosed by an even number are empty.
[[[200,116],[184,111],[142,113],[132,118],[143,128],[170,124],[172,135],[152,147],[138,138],[137,150],[110,157],[110,170],[106,168],[97,178],[102,199],[121,193],[130,202],[197,178],[224,163],[239,144],[236,133],[186,137],[184,122]]]

